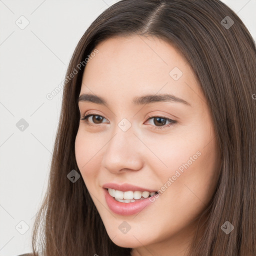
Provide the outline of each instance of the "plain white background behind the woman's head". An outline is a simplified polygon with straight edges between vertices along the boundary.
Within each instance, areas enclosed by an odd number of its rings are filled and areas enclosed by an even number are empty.
[[[31,252],[34,215],[45,192],[64,79],[90,23],[116,0],[0,0],[0,256]],[[223,0],[256,39],[256,0]],[[20,29],[16,25],[29,24]],[[223,17],[224,18],[224,17]],[[16,123],[24,118],[28,127]],[[29,226],[24,234],[25,224]],[[17,229],[15,228],[17,225]]]

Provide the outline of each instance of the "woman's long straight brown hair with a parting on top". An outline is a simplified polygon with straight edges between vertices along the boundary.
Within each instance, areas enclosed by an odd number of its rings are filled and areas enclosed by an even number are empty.
[[[85,31],[66,72],[48,188],[33,226],[33,254],[39,245],[45,256],[130,255],[131,248],[108,237],[83,179],[73,183],[67,174],[72,169],[80,173],[74,141],[84,60],[98,42],[135,34],[158,37],[179,50],[213,118],[220,175],[201,214],[207,216],[203,235],[195,236],[189,255],[255,255],[256,49],[241,19],[219,0],[121,0]],[[226,221],[234,227],[229,234],[221,229]]]

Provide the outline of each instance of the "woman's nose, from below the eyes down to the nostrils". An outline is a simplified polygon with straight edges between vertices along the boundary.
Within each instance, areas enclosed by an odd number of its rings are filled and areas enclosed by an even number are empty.
[[[127,131],[119,127],[105,146],[102,166],[112,173],[139,170],[143,166],[145,148],[130,127]]]

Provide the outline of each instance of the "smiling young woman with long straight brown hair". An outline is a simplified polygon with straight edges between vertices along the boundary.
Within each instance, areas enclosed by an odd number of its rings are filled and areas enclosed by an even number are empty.
[[[33,255],[255,255],[255,70],[219,0],[107,8],[68,66]]]

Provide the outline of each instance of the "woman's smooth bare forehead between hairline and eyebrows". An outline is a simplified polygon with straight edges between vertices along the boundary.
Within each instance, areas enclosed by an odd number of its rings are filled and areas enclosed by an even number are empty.
[[[193,70],[177,49],[156,37],[112,37],[96,45],[86,64],[81,93],[112,99],[171,93],[186,101],[203,98]]]

